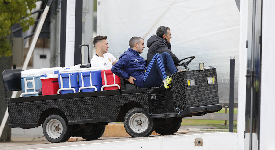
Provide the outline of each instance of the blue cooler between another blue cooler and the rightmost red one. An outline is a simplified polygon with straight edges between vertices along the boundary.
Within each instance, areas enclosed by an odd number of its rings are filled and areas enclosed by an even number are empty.
[[[92,69],[92,68],[90,68]],[[79,70],[79,92],[100,91],[102,87],[101,70]],[[90,77],[91,76],[91,77]],[[83,82],[82,82],[83,79]],[[91,85],[92,83],[92,85]],[[84,86],[83,86],[84,84]]]

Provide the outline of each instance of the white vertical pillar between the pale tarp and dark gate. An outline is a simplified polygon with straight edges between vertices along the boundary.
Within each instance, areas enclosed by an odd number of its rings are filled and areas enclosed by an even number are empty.
[[[240,1],[240,48],[239,48],[239,91],[238,91],[238,138],[239,148],[244,149],[245,91],[248,37],[248,0]],[[249,138],[248,138],[249,139]],[[246,146],[247,147],[247,146]]]

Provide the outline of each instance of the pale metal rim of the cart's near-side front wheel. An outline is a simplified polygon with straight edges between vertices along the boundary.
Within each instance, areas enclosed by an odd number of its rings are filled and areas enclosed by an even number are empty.
[[[136,133],[144,132],[149,126],[148,117],[142,113],[135,113],[129,119],[129,126]]]

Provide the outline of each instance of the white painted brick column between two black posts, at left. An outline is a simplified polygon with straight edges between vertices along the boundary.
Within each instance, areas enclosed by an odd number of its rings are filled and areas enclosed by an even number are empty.
[[[67,0],[65,67],[74,66],[74,54],[75,54],[75,0]]]

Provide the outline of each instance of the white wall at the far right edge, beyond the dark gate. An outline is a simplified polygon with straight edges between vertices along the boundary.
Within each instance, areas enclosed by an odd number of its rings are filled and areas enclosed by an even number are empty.
[[[275,1],[263,1],[262,9],[260,149],[275,149]]]

